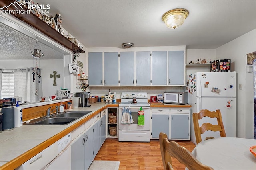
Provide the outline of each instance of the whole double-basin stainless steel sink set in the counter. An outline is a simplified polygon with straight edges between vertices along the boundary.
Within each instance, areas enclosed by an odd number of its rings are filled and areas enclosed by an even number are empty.
[[[50,117],[40,117],[25,123],[26,125],[67,125],[92,111],[67,111]]]

